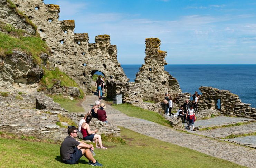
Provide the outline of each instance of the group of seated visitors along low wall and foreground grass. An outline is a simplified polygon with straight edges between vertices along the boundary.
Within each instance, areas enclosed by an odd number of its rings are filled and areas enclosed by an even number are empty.
[[[105,108],[106,106],[104,103],[100,103],[99,100],[96,100],[95,105],[90,112],[80,120],[78,130],[75,126],[68,127],[68,136],[60,146],[60,156],[64,163],[75,164],[84,155],[89,160],[89,165],[102,166],[102,164],[98,163],[98,161],[93,158],[91,153],[91,150],[94,150],[93,145],[88,145],[74,138],[78,137],[78,133],[80,133],[82,134],[83,140],[95,142],[97,149],[107,149],[102,146],[101,135],[95,134],[98,130],[91,130],[89,125],[92,118],[97,118],[98,120],[107,123]]]

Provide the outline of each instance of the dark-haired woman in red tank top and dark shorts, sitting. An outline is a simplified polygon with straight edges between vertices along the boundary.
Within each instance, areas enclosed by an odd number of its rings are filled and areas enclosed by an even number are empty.
[[[98,130],[94,130],[94,131],[90,130],[89,123],[91,120],[92,120],[92,117],[90,115],[88,115],[86,117],[86,121],[82,124],[81,133],[83,134],[83,140],[86,140],[86,141],[87,140],[89,140],[89,141],[95,140],[97,149],[107,149],[102,146],[101,135],[94,134],[94,133],[98,132]],[[98,147],[98,143],[99,143],[99,147]]]

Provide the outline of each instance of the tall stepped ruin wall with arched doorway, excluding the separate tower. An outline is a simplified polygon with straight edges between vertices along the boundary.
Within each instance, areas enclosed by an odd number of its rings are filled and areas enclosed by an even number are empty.
[[[50,47],[51,65],[73,78],[85,93],[91,93],[92,75],[96,71],[101,71],[106,80],[122,81],[123,86],[129,80],[117,61],[116,45],[110,44],[108,35],[96,36],[95,43],[89,43],[87,33],[74,33],[74,20],[58,20],[58,5],[44,4],[42,0],[14,2],[37,25],[41,38]]]

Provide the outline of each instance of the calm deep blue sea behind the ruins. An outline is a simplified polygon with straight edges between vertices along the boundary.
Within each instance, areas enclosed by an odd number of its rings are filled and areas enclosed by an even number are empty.
[[[134,82],[141,65],[121,65]],[[200,86],[211,86],[237,94],[244,103],[256,107],[256,65],[166,65],[182,92],[194,93]]]

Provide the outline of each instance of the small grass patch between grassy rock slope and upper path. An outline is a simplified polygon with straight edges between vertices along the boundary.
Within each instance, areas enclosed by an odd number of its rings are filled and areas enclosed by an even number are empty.
[[[82,108],[79,104],[80,100],[74,99],[70,100],[69,98],[64,98],[59,95],[48,95],[53,98],[54,102],[59,103],[60,106],[69,112],[84,112],[84,108]]]

